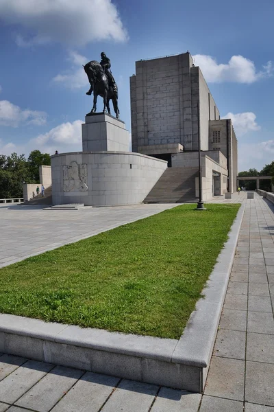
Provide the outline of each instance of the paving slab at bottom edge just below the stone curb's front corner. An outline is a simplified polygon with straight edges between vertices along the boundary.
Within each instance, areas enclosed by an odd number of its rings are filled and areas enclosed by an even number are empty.
[[[243,402],[205,395],[201,401],[199,412],[242,412],[242,408]],[[182,409],[183,411],[184,409]]]

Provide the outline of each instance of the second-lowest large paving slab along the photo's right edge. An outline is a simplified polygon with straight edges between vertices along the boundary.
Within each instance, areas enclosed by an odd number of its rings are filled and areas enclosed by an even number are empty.
[[[247,361],[274,363],[273,335],[248,332]]]

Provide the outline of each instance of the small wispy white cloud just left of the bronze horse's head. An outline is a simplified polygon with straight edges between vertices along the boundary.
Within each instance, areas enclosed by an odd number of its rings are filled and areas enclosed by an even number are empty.
[[[71,69],[66,73],[60,73],[53,78],[53,82],[63,84],[69,89],[80,89],[81,87],[89,87],[88,77],[84,71],[84,67],[88,59],[77,52],[69,52],[68,60],[71,62]]]

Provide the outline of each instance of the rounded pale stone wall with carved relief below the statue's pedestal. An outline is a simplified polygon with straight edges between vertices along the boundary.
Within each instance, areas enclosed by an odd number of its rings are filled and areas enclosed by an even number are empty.
[[[167,162],[134,152],[74,152],[51,157],[53,205],[142,203]]]

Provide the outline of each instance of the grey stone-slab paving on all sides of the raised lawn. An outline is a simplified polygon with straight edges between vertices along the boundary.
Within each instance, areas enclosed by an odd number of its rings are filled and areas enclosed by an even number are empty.
[[[203,395],[3,354],[0,412],[274,412],[274,205],[245,192],[214,203],[236,201],[245,214]],[[2,265],[174,206],[0,207]]]

